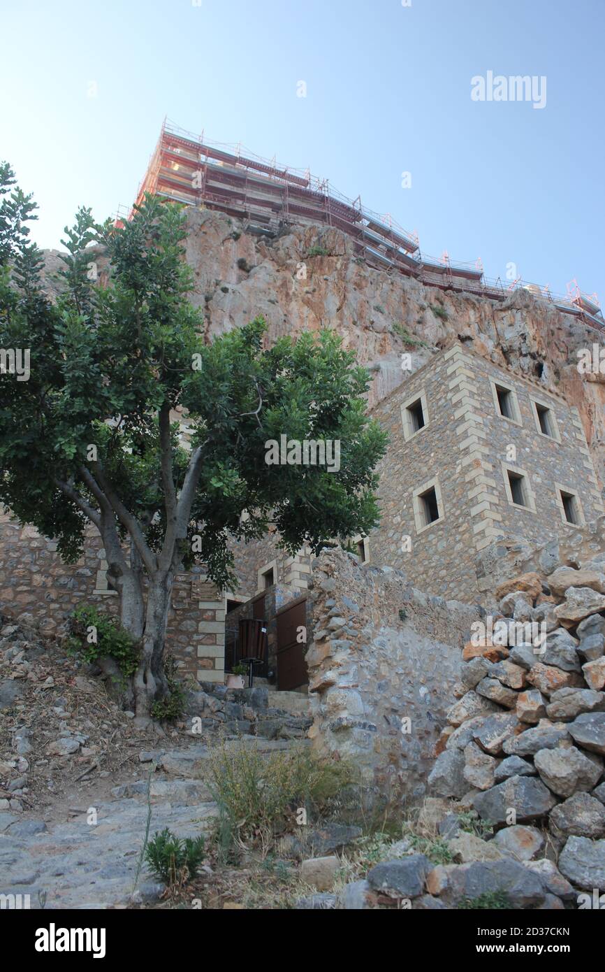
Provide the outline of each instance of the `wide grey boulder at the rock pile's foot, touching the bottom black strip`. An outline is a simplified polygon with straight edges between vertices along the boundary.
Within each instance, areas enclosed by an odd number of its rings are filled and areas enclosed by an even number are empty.
[[[542,879],[511,857],[460,864],[448,874],[441,898],[455,907],[465,898],[475,900],[494,891],[503,891],[511,907],[520,909],[536,908],[545,898]]]

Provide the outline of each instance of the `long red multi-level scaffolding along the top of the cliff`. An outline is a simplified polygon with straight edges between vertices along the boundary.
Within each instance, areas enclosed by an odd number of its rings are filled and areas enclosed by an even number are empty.
[[[275,158],[254,156],[241,145],[212,142],[204,133],[195,135],[168,120],[137,192],[137,205],[146,192],[225,213],[261,234],[301,223],[335,227],[353,240],[356,256],[389,273],[491,300],[505,300],[521,289],[554,303],[589,328],[605,330],[596,295],[584,294],[575,280],[566,295],[554,295],[548,287],[521,278],[505,288],[500,278],[490,280],[484,275],[481,260],[463,263],[447,254],[441,260],[423,255],[415,233],[398,226],[390,215],[362,206],[359,197],[347,198],[309,170],[278,165]]]

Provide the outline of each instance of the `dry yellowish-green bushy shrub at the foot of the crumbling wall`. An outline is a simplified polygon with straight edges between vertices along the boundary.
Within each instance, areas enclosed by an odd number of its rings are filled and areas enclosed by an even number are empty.
[[[209,743],[204,780],[218,804],[218,839],[272,840],[297,812],[325,808],[353,781],[344,761],[319,758],[309,749],[263,754],[243,739]]]

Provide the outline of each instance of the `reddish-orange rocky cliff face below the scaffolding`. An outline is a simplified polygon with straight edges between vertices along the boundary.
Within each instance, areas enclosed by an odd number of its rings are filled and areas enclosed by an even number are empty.
[[[374,269],[355,257],[352,240],[338,229],[289,226],[259,236],[222,213],[193,208],[187,220],[192,300],[204,311],[209,337],[256,315],[266,319],[270,338],[321,327],[339,330],[373,372],[372,404],[409,374],[401,369],[403,352],[416,370],[457,337],[577,405],[604,481],[605,375],[583,375],[576,366],[577,351],[591,347],[597,331],[527,291],[496,302]],[[98,251],[95,256],[103,282],[104,260]],[[50,272],[57,262],[56,251],[50,251]],[[49,286],[56,291],[51,277]]]

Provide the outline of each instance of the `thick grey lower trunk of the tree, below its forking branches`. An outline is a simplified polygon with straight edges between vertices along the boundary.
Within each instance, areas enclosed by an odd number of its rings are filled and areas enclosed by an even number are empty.
[[[150,578],[141,660],[133,683],[137,725],[149,725],[153,701],[168,694],[163,655],[173,580],[172,570],[158,571]]]

